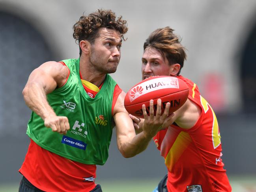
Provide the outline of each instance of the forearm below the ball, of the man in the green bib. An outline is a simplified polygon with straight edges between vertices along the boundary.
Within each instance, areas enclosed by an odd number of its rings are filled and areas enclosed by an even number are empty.
[[[141,153],[147,148],[150,140],[151,137],[146,136],[145,133],[142,131],[135,137],[129,138],[124,142],[120,143],[119,150],[125,158],[134,157],[135,155]]]

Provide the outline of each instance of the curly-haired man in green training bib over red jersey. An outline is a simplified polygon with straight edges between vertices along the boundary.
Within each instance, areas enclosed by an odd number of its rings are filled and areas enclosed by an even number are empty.
[[[170,103],[161,116],[159,102],[158,115],[149,116],[150,122],[135,134],[123,105],[125,93],[108,75],[117,69],[128,30],[122,17],[100,9],[80,17],[73,28],[80,57],[43,63],[22,92],[32,115],[20,192],[101,192],[94,182],[96,165],[108,158],[114,125],[118,149],[128,158],[143,151],[170,119]]]

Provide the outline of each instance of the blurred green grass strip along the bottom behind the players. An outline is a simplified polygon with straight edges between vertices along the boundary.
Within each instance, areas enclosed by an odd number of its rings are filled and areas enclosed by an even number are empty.
[[[148,180],[99,180],[103,192],[152,192],[156,187],[159,179]],[[229,177],[232,192],[256,192],[256,175],[255,176],[232,176]],[[0,192],[17,192],[19,184],[0,185]]]

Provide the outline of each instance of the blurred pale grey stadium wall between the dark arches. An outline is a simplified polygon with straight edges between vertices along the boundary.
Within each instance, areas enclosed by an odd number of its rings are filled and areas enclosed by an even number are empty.
[[[121,3],[82,0],[0,0],[0,9],[31,22],[45,37],[56,60],[78,57],[72,26],[85,13],[98,8],[112,9],[128,21],[128,40],[123,43],[118,71],[112,76],[127,91],[141,80],[143,43],[156,28],[170,26],[182,38],[188,58],[181,75],[194,80],[205,97],[220,91],[220,111],[236,112],[241,106],[237,66],[246,35],[255,18],[256,1],[129,1]],[[131,76],[133,78],[131,78]],[[219,78],[207,89],[206,79]],[[208,92],[207,92],[208,91]],[[209,95],[209,96],[208,96]],[[211,102],[209,102],[211,103]]]

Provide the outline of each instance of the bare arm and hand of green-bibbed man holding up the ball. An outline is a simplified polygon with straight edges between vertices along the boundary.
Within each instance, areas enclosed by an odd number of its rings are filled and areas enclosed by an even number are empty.
[[[123,101],[124,101],[125,93],[122,92],[116,105],[114,107],[114,121],[116,123],[116,136],[117,136],[117,145],[121,154],[125,158],[133,157],[136,154],[144,151],[148,146],[149,141],[159,129],[163,126],[163,122],[167,117],[167,111],[163,116],[161,114],[161,105],[159,107],[160,112],[159,116],[155,117],[151,115],[147,119],[147,123],[144,123],[144,127],[142,128],[142,132],[139,134],[135,134],[135,129],[133,126],[133,121],[129,117],[128,112],[125,110]],[[142,107],[143,109],[143,107]],[[153,110],[153,103],[151,110]],[[146,113],[146,108],[144,107],[144,115]],[[152,114],[152,111],[151,111]],[[153,112],[154,114],[154,112]],[[146,116],[148,116],[146,114]],[[161,118],[160,118],[161,117]]]

